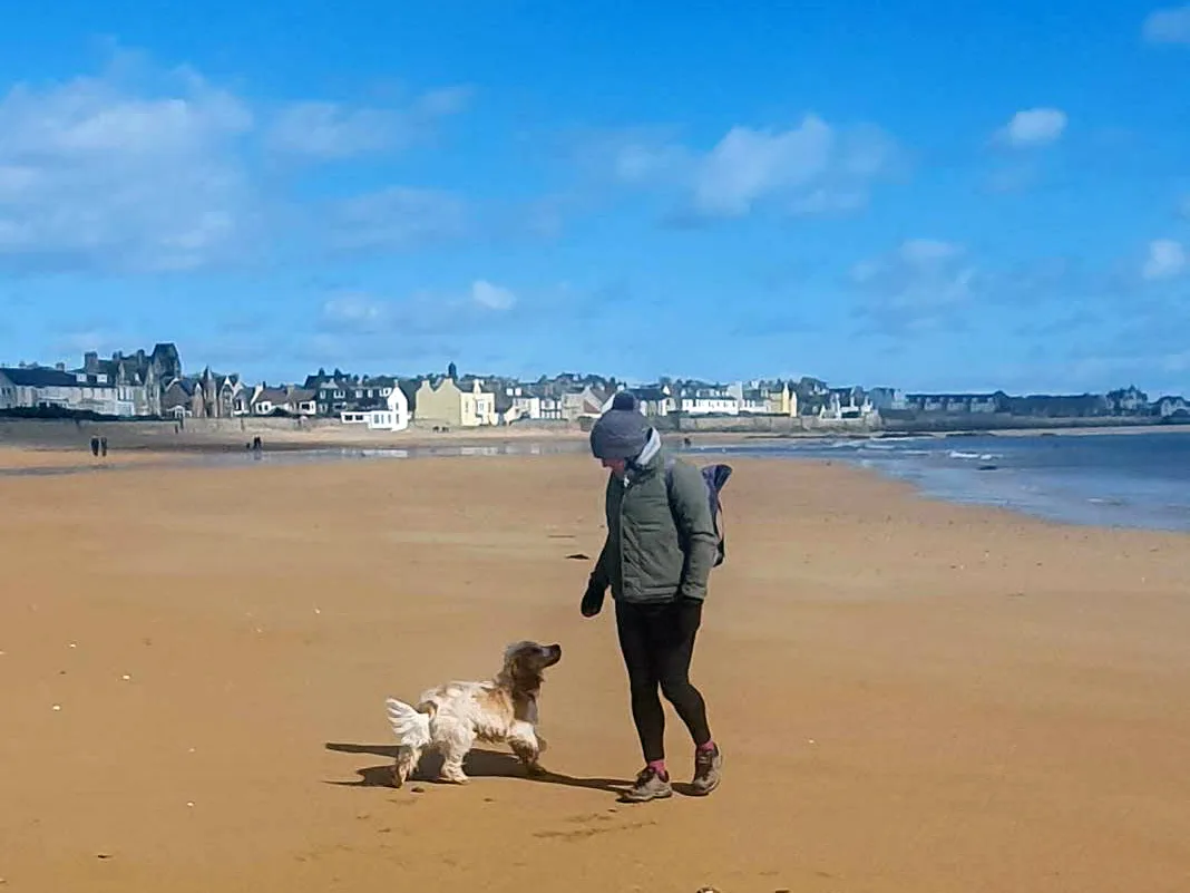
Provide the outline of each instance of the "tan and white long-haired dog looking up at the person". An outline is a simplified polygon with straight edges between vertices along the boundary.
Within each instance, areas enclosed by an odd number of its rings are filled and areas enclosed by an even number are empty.
[[[422,692],[416,706],[388,698],[388,722],[397,739],[393,780],[401,787],[426,750],[443,756],[441,779],[468,781],[463,760],[477,741],[508,744],[528,772],[538,769],[545,741],[537,735],[537,699],[544,673],[562,660],[560,645],[516,642],[503,666],[486,681],[446,682]]]

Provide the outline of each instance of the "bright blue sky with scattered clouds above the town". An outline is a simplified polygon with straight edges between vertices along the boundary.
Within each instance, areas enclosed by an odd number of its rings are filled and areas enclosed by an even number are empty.
[[[1190,393],[1188,95],[1132,0],[36,4],[0,362]]]

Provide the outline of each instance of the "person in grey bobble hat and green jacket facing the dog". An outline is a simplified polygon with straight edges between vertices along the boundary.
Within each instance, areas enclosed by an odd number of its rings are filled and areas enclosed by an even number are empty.
[[[697,468],[668,457],[660,435],[626,392],[616,394],[591,427],[590,449],[609,472],[607,539],[581,612],[600,613],[610,587],[632,718],[645,757],[625,799],[643,803],[672,794],[658,687],[694,741],[691,789],[709,794],[719,786],[722,755],[702,694],[689,677],[718,549],[706,485]]]

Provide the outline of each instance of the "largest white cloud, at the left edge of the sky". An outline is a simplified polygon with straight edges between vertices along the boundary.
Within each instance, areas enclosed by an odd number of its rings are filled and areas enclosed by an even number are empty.
[[[165,81],[164,95],[79,77],[0,98],[0,263],[188,270],[236,252],[252,112],[187,69]]]

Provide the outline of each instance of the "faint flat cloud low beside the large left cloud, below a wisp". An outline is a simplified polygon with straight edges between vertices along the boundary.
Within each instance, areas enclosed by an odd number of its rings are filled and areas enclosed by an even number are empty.
[[[332,243],[344,250],[400,250],[458,238],[466,206],[452,193],[395,186],[338,202]]]

